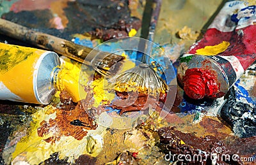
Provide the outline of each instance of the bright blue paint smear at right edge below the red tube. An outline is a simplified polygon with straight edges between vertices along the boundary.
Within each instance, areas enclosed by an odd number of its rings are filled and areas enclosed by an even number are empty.
[[[237,80],[237,82],[234,84],[238,90],[236,90],[236,97],[237,99],[246,99],[246,101],[248,101],[248,103],[252,103],[253,105],[256,105],[256,102],[253,101],[252,97],[250,97],[248,91],[246,89],[244,89],[243,86],[239,85],[240,80]]]

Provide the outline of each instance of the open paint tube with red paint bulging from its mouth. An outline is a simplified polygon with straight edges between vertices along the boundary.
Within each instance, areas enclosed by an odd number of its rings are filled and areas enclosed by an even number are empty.
[[[193,99],[217,98],[256,59],[255,6],[225,3],[204,37],[180,58],[177,79]]]

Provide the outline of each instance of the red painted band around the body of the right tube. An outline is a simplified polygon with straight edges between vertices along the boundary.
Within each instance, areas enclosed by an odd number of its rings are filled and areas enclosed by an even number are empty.
[[[244,70],[246,70],[256,59],[256,25],[249,25],[240,29],[241,34],[237,31],[221,32],[218,29],[208,29],[204,38],[202,38],[194,47],[191,47],[189,54],[196,54],[196,50],[205,46],[214,46],[222,41],[228,41],[230,46],[225,52],[218,55],[234,55],[240,61]]]

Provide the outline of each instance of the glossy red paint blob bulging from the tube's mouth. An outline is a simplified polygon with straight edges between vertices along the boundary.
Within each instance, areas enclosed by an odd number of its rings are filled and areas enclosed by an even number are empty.
[[[219,92],[216,76],[210,69],[187,69],[184,76],[184,91],[193,99],[216,97]]]

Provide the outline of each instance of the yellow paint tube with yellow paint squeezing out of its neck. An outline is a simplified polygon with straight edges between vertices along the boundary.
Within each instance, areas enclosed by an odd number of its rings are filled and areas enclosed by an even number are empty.
[[[75,102],[85,96],[54,52],[0,43],[0,69],[1,100],[49,104],[57,90],[67,90]]]

